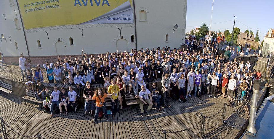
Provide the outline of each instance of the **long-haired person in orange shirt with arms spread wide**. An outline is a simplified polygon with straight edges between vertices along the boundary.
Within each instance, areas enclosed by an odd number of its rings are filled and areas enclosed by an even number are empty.
[[[106,94],[102,92],[102,88],[98,88],[95,91],[95,94],[93,95],[93,97],[89,98],[86,97],[86,95],[84,94],[84,98],[88,99],[88,100],[95,100],[96,103],[96,108],[95,108],[95,115],[94,115],[94,119],[93,119],[93,123],[95,123],[98,119],[98,113],[99,111],[102,109],[104,116],[106,118],[106,121],[108,121],[108,114],[107,114],[107,109],[105,106],[105,98],[106,97],[110,97],[113,94],[115,94],[114,92],[112,94]]]

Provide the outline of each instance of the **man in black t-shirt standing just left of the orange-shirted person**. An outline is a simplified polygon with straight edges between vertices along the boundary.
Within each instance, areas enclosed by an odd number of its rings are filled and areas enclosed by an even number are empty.
[[[85,94],[86,97],[89,97],[89,98],[91,98],[95,94],[94,93],[94,88],[92,86],[90,86],[89,81],[86,81],[86,88],[84,89],[83,94]],[[86,103],[85,103],[85,106],[84,106],[85,107],[85,113],[84,113],[83,117],[86,116],[86,113],[89,110],[89,108],[90,108],[90,114],[92,115],[92,110],[94,110],[94,103],[95,103],[95,100],[86,99]]]

